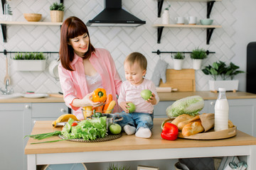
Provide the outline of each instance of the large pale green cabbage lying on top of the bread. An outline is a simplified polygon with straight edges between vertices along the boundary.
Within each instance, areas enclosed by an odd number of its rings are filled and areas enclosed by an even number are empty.
[[[189,96],[175,101],[166,108],[166,115],[169,118],[176,118],[178,115],[197,115],[203,109],[204,101],[201,96]]]

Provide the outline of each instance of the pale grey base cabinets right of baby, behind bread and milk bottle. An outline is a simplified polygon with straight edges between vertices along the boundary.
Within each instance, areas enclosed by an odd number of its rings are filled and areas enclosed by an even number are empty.
[[[154,118],[168,118],[166,108],[174,101],[160,101],[154,106]],[[256,98],[228,99],[229,119],[238,130],[256,137]],[[205,100],[200,113],[214,113],[215,100]]]

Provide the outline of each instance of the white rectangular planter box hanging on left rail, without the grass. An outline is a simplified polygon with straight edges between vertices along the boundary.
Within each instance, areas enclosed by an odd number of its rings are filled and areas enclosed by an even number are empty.
[[[43,71],[46,60],[13,60],[16,71]]]

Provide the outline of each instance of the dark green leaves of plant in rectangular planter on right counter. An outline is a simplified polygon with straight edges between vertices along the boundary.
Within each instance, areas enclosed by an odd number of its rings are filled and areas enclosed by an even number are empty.
[[[213,62],[213,65],[208,65],[204,69],[202,69],[202,72],[206,75],[210,75],[213,77],[214,80],[216,80],[218,77],[221,77],[221,79],[225,80],[230,77],[231,80],[234,79],[235,75],[240,73],[245,73],[244,71],[237,70],[240,67],[233,64],[233,62],[230,62],[230,64],[227,66],[225,62]]]

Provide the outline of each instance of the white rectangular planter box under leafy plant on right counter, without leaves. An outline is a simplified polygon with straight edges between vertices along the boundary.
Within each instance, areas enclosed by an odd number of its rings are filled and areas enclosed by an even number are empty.
[[[237,91],[239,80],[209,80],[210,91],[218,91],[225,88],[226,91]]]

